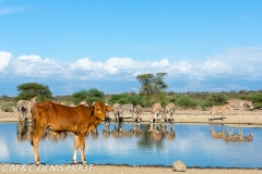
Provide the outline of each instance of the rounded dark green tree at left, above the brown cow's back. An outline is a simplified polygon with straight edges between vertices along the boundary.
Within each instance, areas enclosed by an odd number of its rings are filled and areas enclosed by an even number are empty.
[[[45,100],[45,99],[51,99],[52,94],[49,90],[49,87],[46,85],[37,84],[37,83],[26,83],[19,85],[16,87],[17,91],[20,91],[17,98],[29,100],[34,97],[37,97],[36,99],[38,101]]]

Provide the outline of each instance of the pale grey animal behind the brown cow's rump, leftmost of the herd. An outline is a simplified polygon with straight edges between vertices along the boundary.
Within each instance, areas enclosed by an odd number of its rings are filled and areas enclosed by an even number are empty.
[[[36,97],[29,100],[19,100],[17,111],[20,113],[20,121],[25,121],[25,119],[32,120],[32,109],[36,104]],[[26,116],[25,116],[26,115]]]

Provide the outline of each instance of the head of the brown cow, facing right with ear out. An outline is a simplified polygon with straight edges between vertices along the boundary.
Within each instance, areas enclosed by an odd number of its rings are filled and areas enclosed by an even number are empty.
[[[96,120],[100,122],[107,119],[107,112],[114,111],[111,107],[105,105],[104,102],[99,102],[99,101],[96,101],[92,105],[92,110],[93,110],[93,116],[95,116]]]

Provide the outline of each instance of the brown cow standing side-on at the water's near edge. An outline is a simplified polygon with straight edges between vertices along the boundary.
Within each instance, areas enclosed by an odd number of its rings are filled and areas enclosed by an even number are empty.
[[[85,161],[85,137],[106,119],[106,112],[112,111],[111,107],[106,107],[104,102],[96,102],[92,107],[78,105],[67,107],[51,101],[43,101],[35,104],[33,116],[35,119],[36,130],[33,136],[35,162],[39,164],[38,146],[39,139],[48,127],[55,134],[61,132],[72,132],[74,136],[73,162],[76,163],[76,151],[81,148],[81,161]]]

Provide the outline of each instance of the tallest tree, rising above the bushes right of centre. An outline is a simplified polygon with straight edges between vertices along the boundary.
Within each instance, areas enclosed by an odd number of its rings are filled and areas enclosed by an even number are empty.
[[[142,84],[140,94],[145,97],[146,104],[152,104],[155,101],[163,101],[166,96],[165,89],[168,85],[164,82],[164,76],[167,73],[141,74],[136,79]]]

